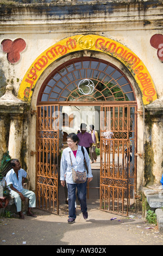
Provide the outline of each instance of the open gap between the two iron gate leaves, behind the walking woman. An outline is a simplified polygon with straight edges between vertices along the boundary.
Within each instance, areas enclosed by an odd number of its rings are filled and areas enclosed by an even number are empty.
[[[100,141],[100,106],[62,106],[62,125],[61,125],[61,154],[62,150],[67,145],[67,135],[71,132],[77,133],[80,131],[80,124],[85,123],[87,125],[86,132],[90,132],[89,126],[94,125],[95,130],[98,133],[98,139]],[[89,205],[98,207],[100,205],[100,148],[96,147],[97,160],[96,163],[91,163],[91,169],[93,174],[93,180],[90,184],[87,184],[87,200]],[[91,159],[90,159],[91,162]],[[65,203],[67,204],[67,187],[62,188],[59,184],[59,204],[60,208],[64,208]],[[77,200],[78,205],[78,200]]]

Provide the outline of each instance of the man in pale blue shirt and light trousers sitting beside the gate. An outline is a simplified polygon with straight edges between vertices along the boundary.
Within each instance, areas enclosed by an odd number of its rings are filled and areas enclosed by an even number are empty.
[[[7,182],[7,185],[10,186],[11,196],[15,198],[15,204],[16,204],[16,209],[18,214],[20,215],[20,218],[24,220],[24,215],[21,210],[22,209],[21,203],[27,197],[29,198],[29,207],[28,207],[27,215],[36,217],[30,211],[31,208],[34,208],[36,206],[35,193],[33,191],[29,191],[23,188],[23,183],[27,177],[27,173],[24,169],[21,168],[21,164],[17,159],[11,160],[11,167],[12,169],[9,170],[9,172],[5,176],[5,180]]]

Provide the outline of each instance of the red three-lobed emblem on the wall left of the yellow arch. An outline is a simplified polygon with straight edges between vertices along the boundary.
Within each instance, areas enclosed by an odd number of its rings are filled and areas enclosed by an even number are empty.
[[[18,38],[14,41],[10,39],[4,39],[1,42],[1,49],[7,53],[7,59],[10,63],[14,64],[20,60],[20,52],[26,48],[26,42],[22,38]]]

